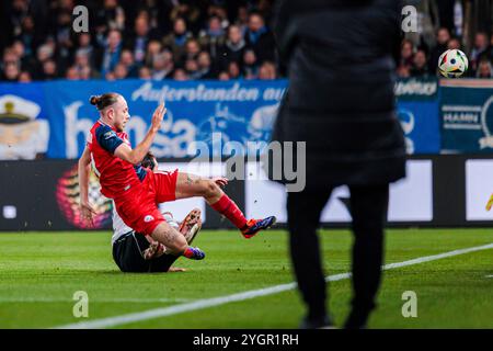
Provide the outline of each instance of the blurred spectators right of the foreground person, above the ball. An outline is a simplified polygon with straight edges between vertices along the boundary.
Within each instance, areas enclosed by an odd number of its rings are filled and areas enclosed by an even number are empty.
[[[398,76],[437,75],[439,56],[460,49],[469,59],[467,78],[493,78],[493,1],[406,0],[415,5],[417,32],[401,43]]]

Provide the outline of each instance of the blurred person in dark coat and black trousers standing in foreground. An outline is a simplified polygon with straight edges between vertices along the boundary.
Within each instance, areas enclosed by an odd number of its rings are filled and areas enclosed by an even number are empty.
[[[308,305],[301,328],[332,326],[317,228],[339,185],[349,188],[355,237],[354,297],[344,327],[366,327],[376,306],[389,183],[405,176],[393,94],[401,9],[395,0],[284,0],[276,7],[289,90],[273,140],[307,143],[305,190],[287,200],[290,254]]]

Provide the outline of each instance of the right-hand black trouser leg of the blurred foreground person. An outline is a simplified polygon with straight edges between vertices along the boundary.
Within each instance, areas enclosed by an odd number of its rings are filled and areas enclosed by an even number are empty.
[[[380,285],[383,261],[383,227],[387,222],[389,185],[349,186],[353,216],[352,312],[346,328],[365,327]]]

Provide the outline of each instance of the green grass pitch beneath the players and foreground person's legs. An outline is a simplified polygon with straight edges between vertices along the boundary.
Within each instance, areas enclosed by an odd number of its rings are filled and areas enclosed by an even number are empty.
[[[184,273],[124,274],[113,263],[111,234],[0,234],[0,328],[48,328],[119,316],[293,281],[283,230],[245,240],[203,230],[204,261],[180,259]],[[349,269],[348,230],[322,230],[325,273]],[[392,229],[386,263],[493,242],[490,229]],[[386,271],[370,328],[493,328],[493,250]],[[351,282],[328,284],[337,325]],[[89,294],[89,318],[74,318],[76,291]],[[417,318],[403,318],[404,291],[417,294]],[[305,313],[297,291],[144,320],[117,328],[296,328]]]

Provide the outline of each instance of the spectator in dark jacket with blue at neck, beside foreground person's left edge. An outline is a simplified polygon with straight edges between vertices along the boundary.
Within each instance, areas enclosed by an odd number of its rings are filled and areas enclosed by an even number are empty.
[[[275,41],[266,27],[264,19],[257,12],[250,13],[249,27],[245,33],[246,45],[255,52],[259,63],[274,60]]]

